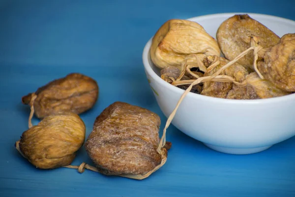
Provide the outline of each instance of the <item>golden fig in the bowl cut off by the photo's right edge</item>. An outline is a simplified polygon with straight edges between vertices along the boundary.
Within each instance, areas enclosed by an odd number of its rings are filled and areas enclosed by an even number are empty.
[[[295,92],[295,33],[285,34],[280,42],[258,53],[261,74],[276,87]]]

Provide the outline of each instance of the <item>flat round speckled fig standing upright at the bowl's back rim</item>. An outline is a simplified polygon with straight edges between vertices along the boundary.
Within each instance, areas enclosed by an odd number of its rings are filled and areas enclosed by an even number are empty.
[[[263,48],[277,44],[280,37],[269,30],[260,22],[252,19],[249,15],[234,15],[225,20],[217,30],[217,42],[225,57],[233,60],[241,52],[251,46],[250,40],[254,36],[257,44]],[[254,70],[254,55],[249,52],[246,56],[237,61],[238,64],[245,66],[248,71]]]

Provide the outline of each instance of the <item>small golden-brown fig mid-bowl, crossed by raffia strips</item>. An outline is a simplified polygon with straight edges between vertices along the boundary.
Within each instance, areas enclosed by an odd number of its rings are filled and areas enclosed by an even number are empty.
[[[208,59],[210,59],[210,57],[207,57],[204,59],[205,66],[207,66],[206,64],[208,64],[208,62],[210,63]],[[209,72],[206,72],[204,76],[213,75],[218,69],[226,65],[228,62],[229,62],[228,60],[221,57],[220,64],[214,67]],[[248,72],[243,66],[235,63],[232,66],[229,66],[228,68],[223,70],[220,73],[220,75],[228,75],[230,77],[233,77],[236,80],[236,82],[241,83],[246,79]],[[214,82],[214,81],[204,82],[203,91],[201,95],[225,99],[228,93],[230,92],[230,90],[232,89],[232,87],[233,87],[233,83],[231,82]]]

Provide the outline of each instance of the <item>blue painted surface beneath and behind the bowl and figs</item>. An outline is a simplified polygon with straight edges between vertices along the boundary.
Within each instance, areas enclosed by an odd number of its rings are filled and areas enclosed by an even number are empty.
[[[21,97],[69,72],[89,75],[100,87],[94,108],[81,115],[87,136],[95,117],[118,100],[159,114],[162,131],[166,118],[144,73],[144,45],[171,18],[222,12],[295,20],[295,1],[0,1],[0,196],[295,197],[295,137],[258,154],[236,156],[210,150],[171,126],[167,163],[142,181],[36,169],[14,148],[28,128],[29,107]],[[84,147],[73,164],[81,162],[91,164]]]

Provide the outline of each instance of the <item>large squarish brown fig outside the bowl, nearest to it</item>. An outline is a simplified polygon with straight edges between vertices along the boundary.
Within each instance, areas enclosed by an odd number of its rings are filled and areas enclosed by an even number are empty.
[[[86,150],[101,173],[140,175],[161,163],[160,118],[157,114],[124,102],[115,102],[95,120]]]

